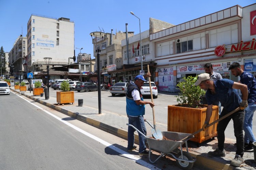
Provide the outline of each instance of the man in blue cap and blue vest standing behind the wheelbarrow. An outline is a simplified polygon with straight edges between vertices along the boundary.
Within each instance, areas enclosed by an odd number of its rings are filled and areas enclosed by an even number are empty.
[[[148,72],[145,77],[150,76],[151,74]],[[126,114],[129,118],[129,124],[133,125],[146,136],[147,131],[143,117],[143,115],[145,115],[145,104],[150,104],[151,107],[154,107],[154,103],[143,100],[140,88],[144,82],[147,81],[144,79],[143,75],[137,75],[134,79],[134,82],[128,85],[126,92]],[[132,151],[137,148],[134,146],[134,132],[135,129],[133,129],[131,126],[128,126],[128,151]],[[139,155],[148,155],[149,152],[146,150],[145,145],[146,138],[140,133],[138,135]]]

